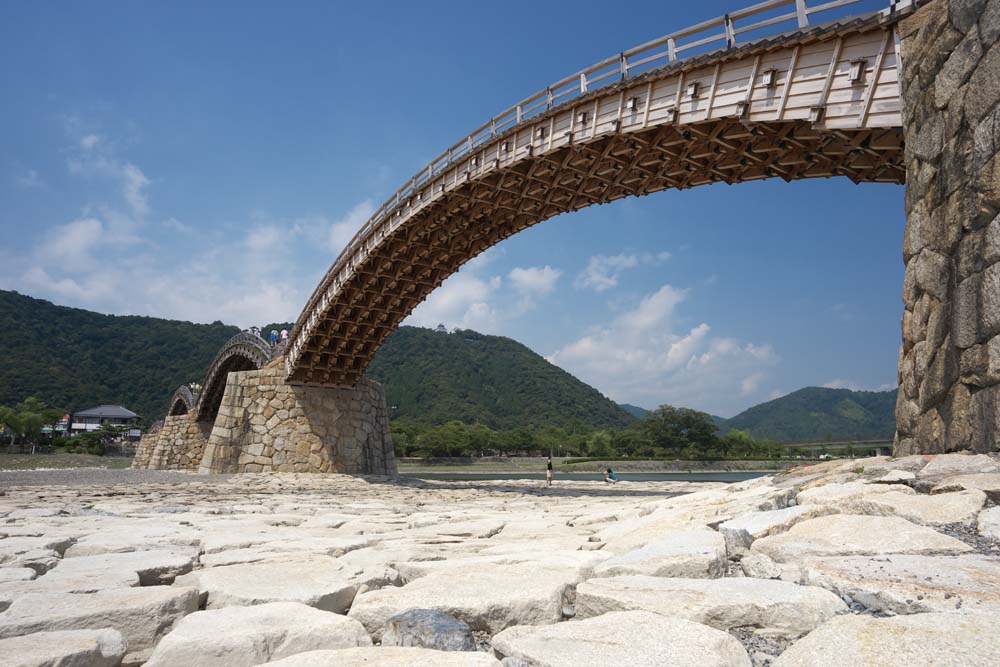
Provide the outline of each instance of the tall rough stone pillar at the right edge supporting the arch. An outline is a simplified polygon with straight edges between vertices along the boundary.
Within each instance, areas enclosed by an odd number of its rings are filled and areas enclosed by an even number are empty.
[[[906,137],[897,456],[1000,445],[1000,12],[900,23]]]

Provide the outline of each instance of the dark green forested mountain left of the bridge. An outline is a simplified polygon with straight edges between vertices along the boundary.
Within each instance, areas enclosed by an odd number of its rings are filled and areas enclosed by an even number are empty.
[[[101,315],[0,290],[0,404],[37,396],[65,410],[118,403],[153,421],[170,394],[200,380],[239,332],[221,322]]]

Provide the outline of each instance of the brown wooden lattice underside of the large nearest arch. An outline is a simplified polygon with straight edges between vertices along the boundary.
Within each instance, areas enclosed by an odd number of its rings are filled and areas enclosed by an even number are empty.
[[[902,149],[898,127],[723,118],[610,134],[520,159],[442,192],[373,243],[323,312],[303,313],[313,323],[288,381],[353,386],[389,333],[445,278],[560,213],[715,182],[844,176],[903,183]]]

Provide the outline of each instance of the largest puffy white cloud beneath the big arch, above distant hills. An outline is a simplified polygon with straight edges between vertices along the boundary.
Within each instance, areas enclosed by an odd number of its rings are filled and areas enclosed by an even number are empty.
[[[677,308],[688,296],[664,285],[549,361],[616,401],[732,414],[757,396],[778,357],[769,345],[714,337],[707,323],[681,326]]]

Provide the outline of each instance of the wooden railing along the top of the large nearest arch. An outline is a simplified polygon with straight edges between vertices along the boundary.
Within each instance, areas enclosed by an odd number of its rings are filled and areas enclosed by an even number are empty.
[[[882,10],[885,15],[909,7],[914,2],[914,0],[883,1],[886,3],[882,5],[886,7]],[[475,155],[477,148],[496,140],[498,136],[530,121],[535,116],[581,95],[697,53],[710,51],[716,47],[732,48],[738,44],[774,36],[788,30],[808,27],[811,17],[816,14],[860,2],[866,2],[869,6],[873,4],[872,0],[825,2],[765,0],[632,47],[564,77],[493,116],[417,172],[362,225],[341,252],[336,263],[349,271],[355,264],[356,258],[378,244],[381,240],[380,226],[393,213],[400,215],[408,206],[419,206],[425,197],[433,197],[434,193],[427,189],[431,181],[454,168],[456,163],[463,159],[469,160],[470,164],[475,166],[474,161],[478,159]],[[444,188],[444,186],[439,187],[442,190]],[[384,230],[381,230],[381,233],[384,234]],[[316,288],[303,310],[303,315],[310,310],[313,302],[322,298],[327,287],[326,282],[324,280]],[[295,330],[292,332],[292,339],[295,341],[291,347],[293,356],[299,352],[300,345],[296,344],[299,342],[297,340],[299,330],[309,324],[311,323],[303,321],[301,317],[296,322]]]

